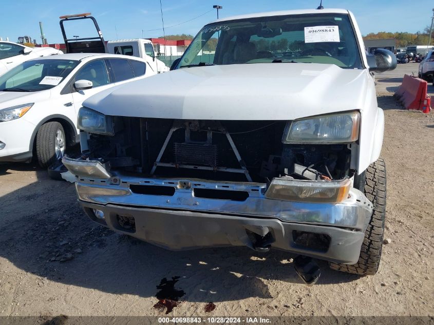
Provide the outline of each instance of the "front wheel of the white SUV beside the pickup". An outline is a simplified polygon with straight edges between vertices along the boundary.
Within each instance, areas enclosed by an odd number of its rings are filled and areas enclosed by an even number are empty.
[[[62,159],[66,149],[65,131],[59,122],[47,122],[36,133],[36,157],[41,167]]]

